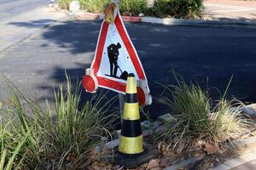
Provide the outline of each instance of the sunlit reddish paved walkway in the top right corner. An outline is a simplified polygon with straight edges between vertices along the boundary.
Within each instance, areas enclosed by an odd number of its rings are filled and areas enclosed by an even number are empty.
[[[205,19],[256,21],[256,2],[205,0]]]

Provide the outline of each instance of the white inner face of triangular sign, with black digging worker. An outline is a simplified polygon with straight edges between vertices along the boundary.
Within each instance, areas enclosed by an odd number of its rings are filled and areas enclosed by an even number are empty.
[[[125,82],[128,73],[133,73],[138,79],[137,71],[131,61],[130,54],[125,48],[125,43],[119,36],[116,26],[110,24],[97,76]]]

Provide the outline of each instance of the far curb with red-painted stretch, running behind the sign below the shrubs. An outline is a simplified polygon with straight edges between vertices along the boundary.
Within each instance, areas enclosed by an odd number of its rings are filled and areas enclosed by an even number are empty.
[[[93,14],[80,11],[74,14],[79,20],[104,20],[104,14]],[[160,24],[166,26],[256,26],[256,21],[244,20],[183,20],[172,18],[155,18],[155,17],[140,17],[140,16],[122,16],[126,22],[144,22],[151,24]]]

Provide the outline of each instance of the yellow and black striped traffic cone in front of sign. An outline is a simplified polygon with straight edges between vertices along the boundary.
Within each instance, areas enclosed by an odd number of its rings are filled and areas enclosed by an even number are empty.
[[[127,156],[136,156],[143,153],[144,149],[137,99],[137,82],[134,74],[129,74],[128,76],[125,93],[119,153]]]

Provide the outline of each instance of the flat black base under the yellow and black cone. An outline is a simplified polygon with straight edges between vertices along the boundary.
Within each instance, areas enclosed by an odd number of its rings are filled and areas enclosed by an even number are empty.
[[[135,168],[148,163],[148,161],[160,156],[159,150],[146,150],[142,154],[137,154],[135,156],[125,156],[123,154],[116,154],[114,156],[107,156],[109,162],[117,165],[122,165],[125,168]]]

